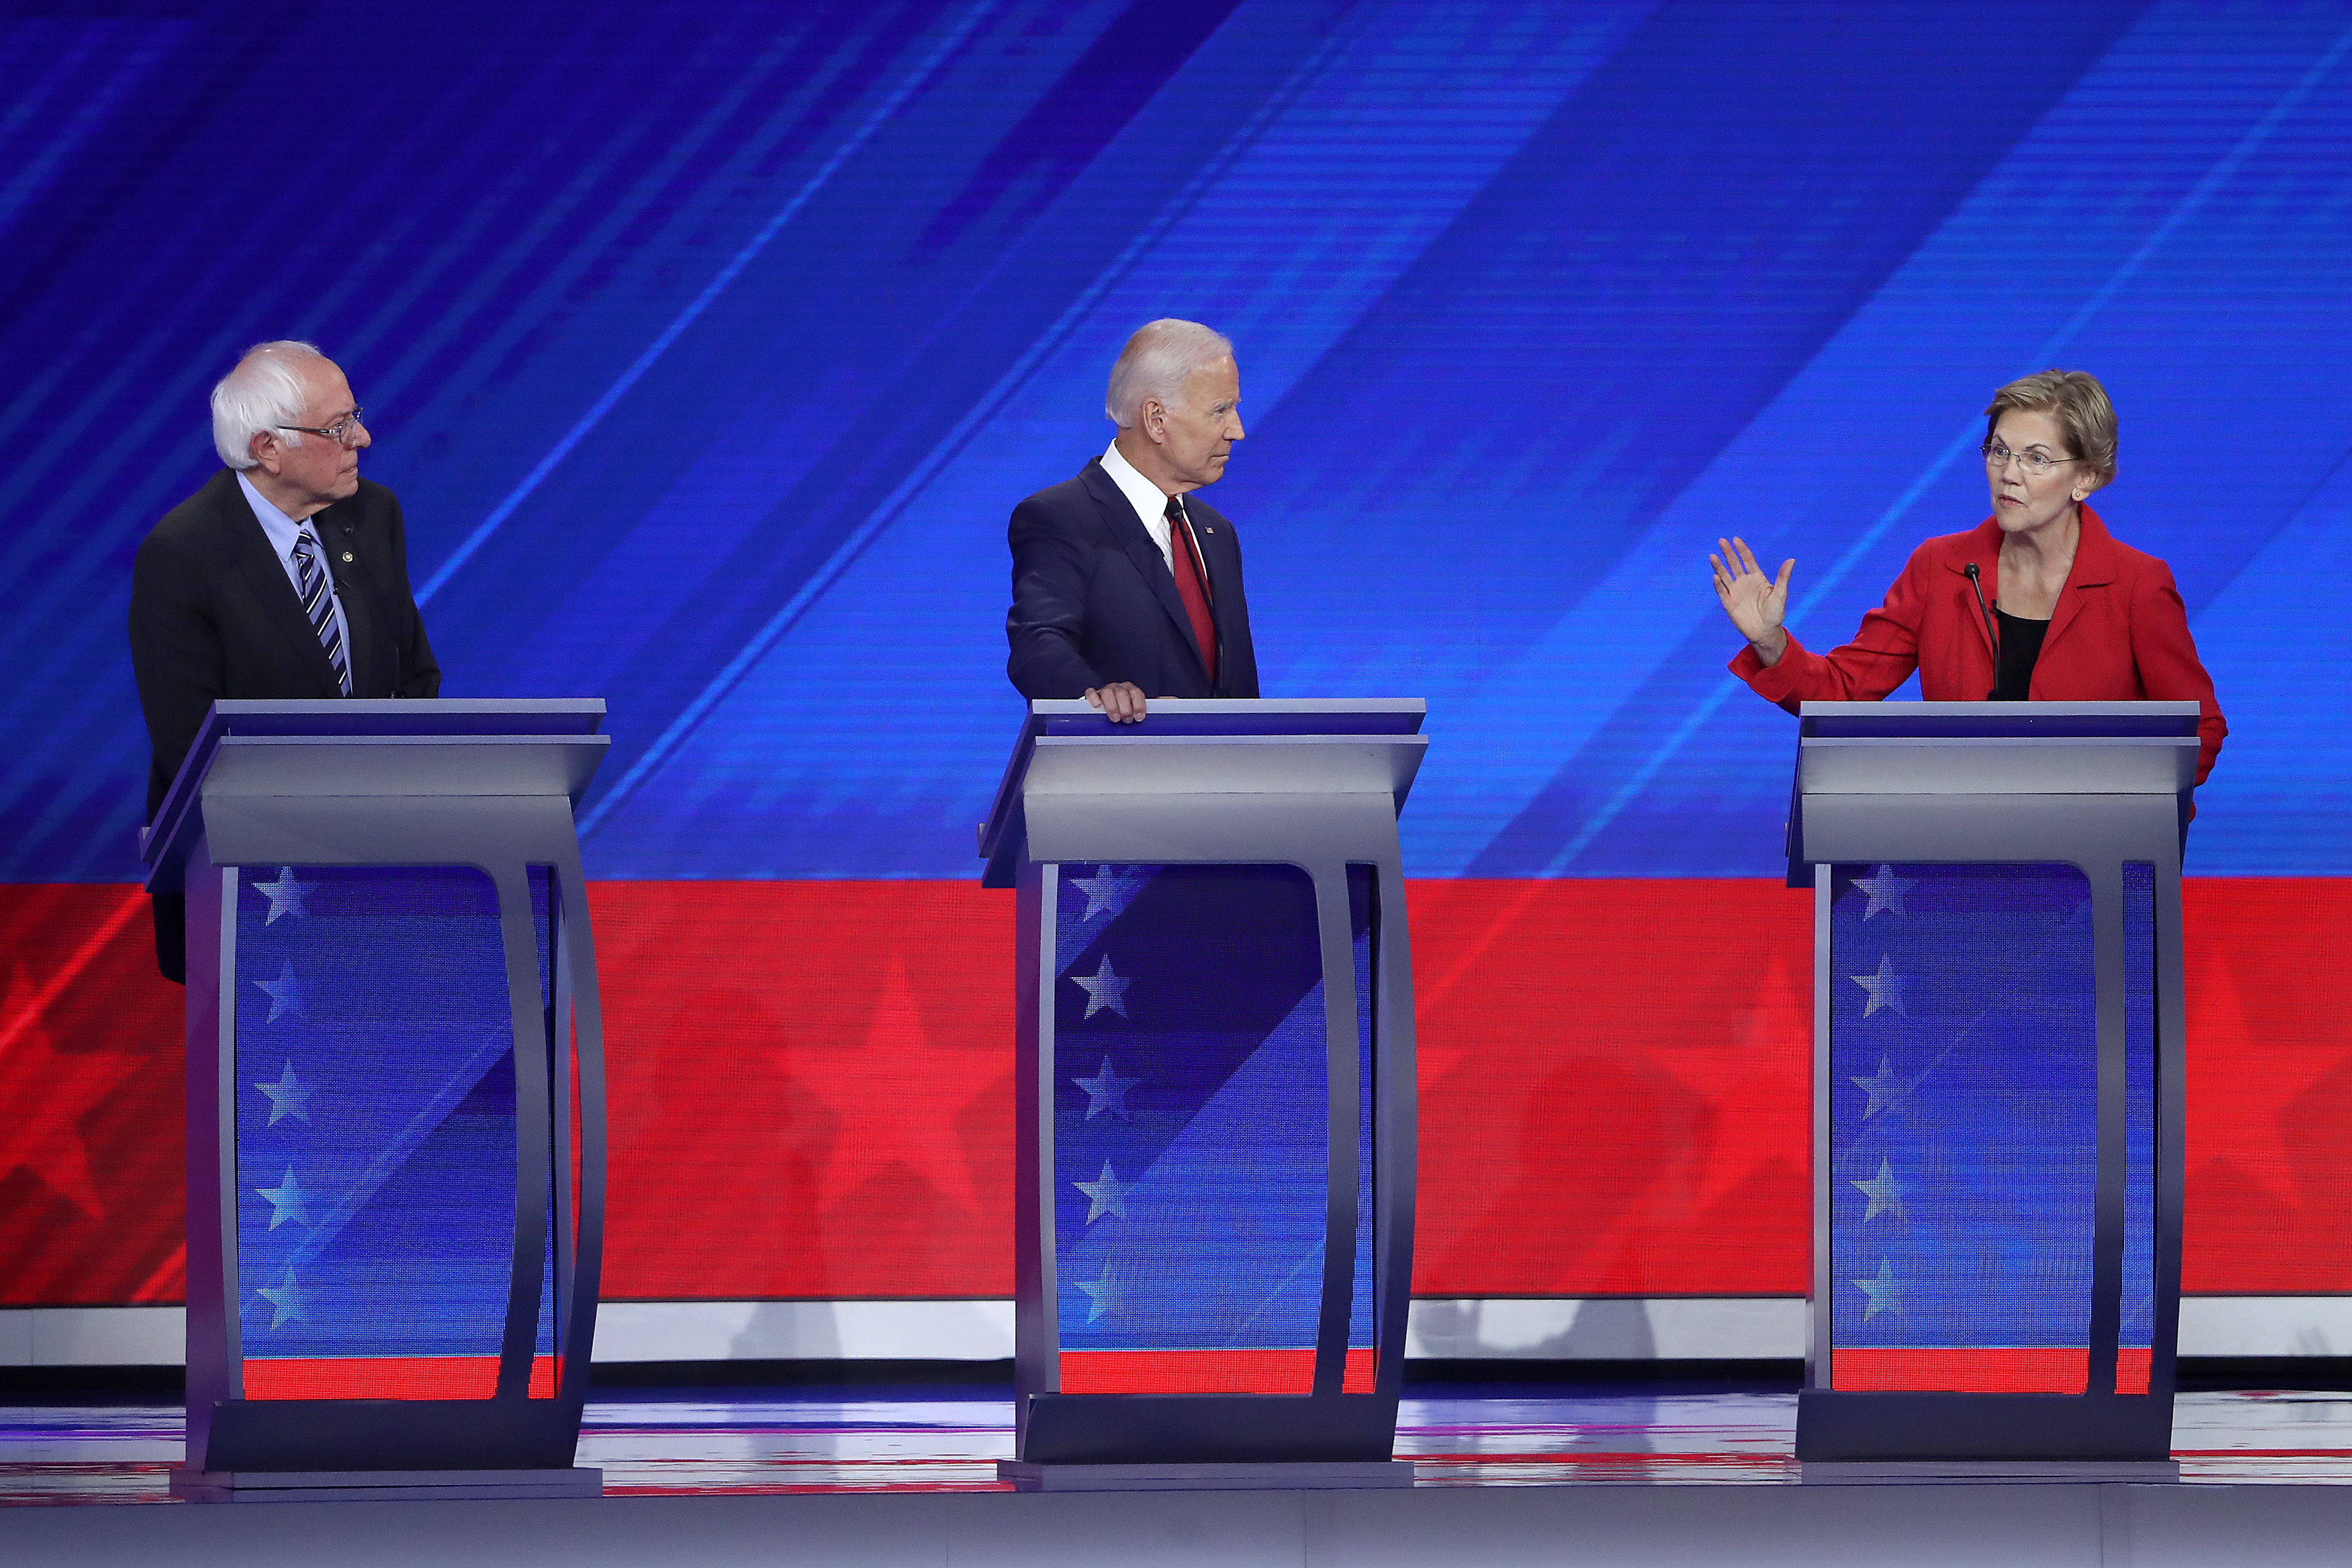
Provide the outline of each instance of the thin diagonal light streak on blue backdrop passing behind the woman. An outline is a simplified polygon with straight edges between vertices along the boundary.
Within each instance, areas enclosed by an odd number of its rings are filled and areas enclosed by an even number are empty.
[[[2246,129],[2246,134],[2239,136],[2237,143],[2227,153],[2223,153],[2220,160],[2213,162],[2211,169],[2206,169],[2204,179],[2199,179],[2190,188],[2190,193],[2173,205],[2173,209],[2164,216],[2164,221],[2157,223],[2150,230],[2150,235],[2140,240],[2140,244],[2122,263],[2117,263],[2114,273],[2110,273],[2100,287],[2091,289],[2089,299],[2084,299],[2084,303],[2077,306],[2077,310],[2049,339],[2044,339],[2044,343],[2032,355],[2025,357],[2025,369],[2020,369],[2018,374],[2023,376],[2032,374],[2034,367],[2046,367],[2060,348],[2074,341],[2074,336],[2091,324],[2091,317],[2096,317],[2107,306],[2107,301],[2112,301],[2124,289],[2124,284],[2138,277],[2140,268],[2147,266],[2150,256],[2154,256],[2180,230],[2183,223],[2187,223],[2199,209],[2204,209],[2204,205],[2213,200],[2213,193],[2220,190],[2223,183],[2227,183],[2239,172],[2239,167],[2244,167],[2244,162],[2253,158],[2253,153],[2265,141],[2272,139],[2272,134],[2277,134],[2279,125],[2284,125],[2286,118],[2303,106],[2303,101],[2312,94],[2312,89],[2319,87],[2319,82],[2343,61],[2345,52],[2352,52],[2352,28],[2340,33],[2333,47],[2328,47],[2328,52],[2321,54],[2319,61],[2310,71],[2305,71],[2296,80],[2296,85],[2288,87],[2279,96],[2279,101],[2272,103],[2263,113],[2263,118],[2256,120]],[[1917,480],[1903,487],[1903,494],[1896,496],[1893,503],[1879,512],[1877,522],[1863,529],[1860,538],[1846,545],[1846,552],[1830,564],[1830,569],[1820,576],[1820,581],[1811,588],[1811,592],[1806,592],[1804,599],[1797,604],[1797,618],[1804,618],[1806,614],[1820,609],[1823,599],[1828,599],[1830,592],[1839,583],[1844,583],[1844,578],[1853,571],[1853,567],[1858,567],[1860,559],[1870,555],[1870,550],[1875,550],[1882,538],[1886,538],[1886,531],[1910,512],[1910,508],[1919,501],[1919,496],[1924,496],[1931,484],[1936,484],[1945,473],[1950,473],[1952,463],[1957,463],[1962,454],[1971,451],[1980,440],[1983,437],[1978,435],[1976,421],[1962,425],[1959,435],[1955,435],[1943,447],[1943,451],[1938,451],[1936,458],[1924,470],[1919,470]],[[1585,818],[1585,823],[1569,837],[1569,842],[1559,849],[1559,853],[1555,853],[1550,863],[1545,863],[1543,875],[1559,877],[1569,865],[1573,865],[1576,856],[1581,856],[1585,846],[1592,844],[1592,839],[1606,832],[1609,823],[1623,816],[1623,811],[1635,799],[1639,799],[1644,790],[1649,790],[1649,783],[1658,776],[1658,771],[1665,769],[1665,764],[1672,762],[1672,757],[1691,741],[1691,736],[1696,736],[1700,726],[1715,717],[1715,712],[1724,705],[1724,701],[1729,701],[1733,691],[1745,691],[1745,689],[1748,689],[1745,682],[1726,677],[1708,696],[1703,696],[1698,705],[1691,708],[1689,715],[1684,715],[1682,724],[1677,724],[1675,731],[1663,743],[1658,743],[1658,748],[1651,750],[1649,757],[1642,759],[1642,764],[1625,778],[1625,783],[1621,783],[1609,795],[1609,799],[1602,802],[1602,806]]]

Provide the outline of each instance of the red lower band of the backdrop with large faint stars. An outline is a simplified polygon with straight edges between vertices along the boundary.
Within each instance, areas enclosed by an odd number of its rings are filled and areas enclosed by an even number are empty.
[[[1423,1295],[1802,1295],[1811,900],[1416,882]],[[2352,879],[2185,903],[2183,1286],[2352,1291]],[[590,889],[604,1295],[1011,1295],[1014,900]],[[181,992],[146,898],[0,886],[0,1305],[181,1298]]]

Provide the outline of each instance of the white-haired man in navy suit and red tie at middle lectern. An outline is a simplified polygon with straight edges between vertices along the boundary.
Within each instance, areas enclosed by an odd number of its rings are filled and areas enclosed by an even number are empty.
[[[1120,428],[1075,480],[1014,508],[1004,672],[1115,724],[1152,696],[1258,696],[1232,522],[1185,501],[1242,440],[1232,343],[1160,320],[1127,339],[1103,411]]]

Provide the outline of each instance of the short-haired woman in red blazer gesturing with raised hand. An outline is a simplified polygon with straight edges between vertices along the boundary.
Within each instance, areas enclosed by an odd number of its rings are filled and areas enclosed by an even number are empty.
[[[1813,654],[1780,625],[1795,559],[1764,576],[1745,541],[1717,541],[1715,597],[1748,637],[1731,672],[1790,712],[1877,701],[1912,670],[1931,703],[2194,698],[2204,783],[2230,726],[2171,569],[2084,505],[2112,477],[2114,407],[2098,378],[2011,381],[1985,409],[1992,517],[1912,550],[1846,646]]]

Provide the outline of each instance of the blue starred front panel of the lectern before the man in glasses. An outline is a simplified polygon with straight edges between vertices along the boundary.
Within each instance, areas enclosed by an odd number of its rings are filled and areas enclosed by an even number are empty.
[[[247,1396],[487,1399],[515,1227],[496,889],[473,867],[245,867],[238,884]],[[543,1312],[541,1354],[548,1331]]]

